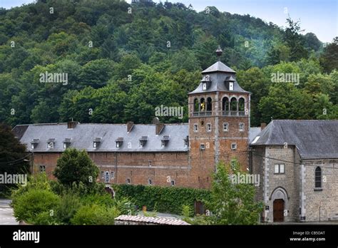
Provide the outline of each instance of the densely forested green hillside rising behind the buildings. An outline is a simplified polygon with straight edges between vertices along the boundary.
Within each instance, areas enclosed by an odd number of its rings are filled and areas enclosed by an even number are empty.
[[[200,71],[222,61],[252,92],[251,123],[338,117],[338,38],[323,44],[301,24],[200,13],[183,4],[39,0],[0,9],[0,123],[150,123],[158,105],[184,106]],[[329,25],[329,24],[328,24]],[[333,39],[334,37],[332,37]],[[68,73],[41,83],[41,73]],[[298,83],[272,83],[299,73]]]

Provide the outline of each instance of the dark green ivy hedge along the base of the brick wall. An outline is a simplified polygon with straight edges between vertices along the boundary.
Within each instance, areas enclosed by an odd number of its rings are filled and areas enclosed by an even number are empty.
[[[183,205],[194,209],[195,201],[210,200],[210,191],[188,187],[161,187],[145,185],[113,185],[116,198],[128,197],[138,209],[144,205],[147,210],[182,214]]]

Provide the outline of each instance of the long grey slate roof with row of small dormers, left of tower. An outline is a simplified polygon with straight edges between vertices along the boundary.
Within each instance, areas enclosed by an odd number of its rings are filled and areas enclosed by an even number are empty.
[[[26,126],[26,132],[20,141],[26,144],[29,151],[36,152],[63,152],[63,142],[71,139],[70,147],[85,149],[88,152],[187,152],[184,146],[184,139],[188,136],[188,123],[184,124],[165,124],[165,128],[160,135],[155,135],[155,125],[135,124],[133,130],[127,133],[126,124],[78,124],[76,128],[68,129],[67,123],[58,124],[31,124],[17,125],[21,130]],[[165,146],[161,146],[161,140],[168,139]],[[116,140],[122,140],[120,148],[116,148]],[[147,142],[140,147],[140,139]],[[39,144],[34,150],[31,149],[31,142],[39,139]],[[54,140],[54,146],[47,148],[48,140]],[[93,142],[101,139],[97,148],[93,148]],[[129,143],[129,148],[128,148]]]

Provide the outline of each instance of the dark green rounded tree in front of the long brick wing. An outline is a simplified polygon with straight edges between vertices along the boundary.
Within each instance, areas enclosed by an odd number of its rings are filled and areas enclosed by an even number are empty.
[[[98,167],[85,150],[68,148],[58,159],[53,175],[63,185],[71,186],[73,182],[82,182],[83,185],[91,187],[96,183]]]

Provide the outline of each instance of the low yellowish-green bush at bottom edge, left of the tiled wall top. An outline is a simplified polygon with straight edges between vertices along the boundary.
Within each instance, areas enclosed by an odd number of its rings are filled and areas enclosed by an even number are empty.
[[[71,224],[114,224],[119,212],[116,207],[86,205],[80,207],[71,219]]]

